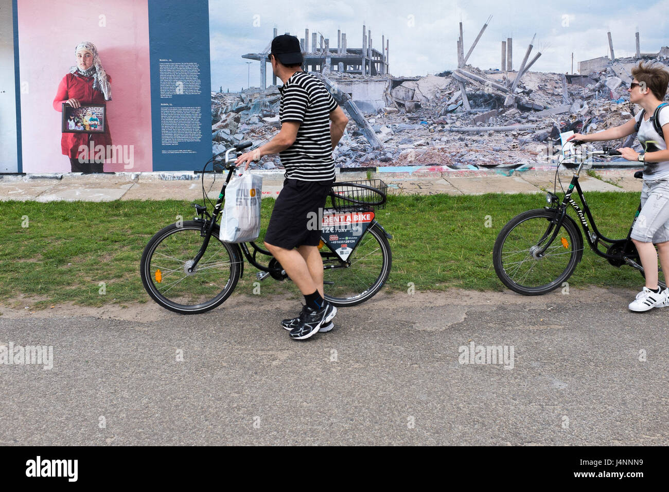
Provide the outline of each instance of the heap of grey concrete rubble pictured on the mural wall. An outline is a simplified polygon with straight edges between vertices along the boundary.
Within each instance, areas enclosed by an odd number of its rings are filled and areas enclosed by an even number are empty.
[[[654,61],[666,62],[659,55]],[[347,131],[333,153],[337,167],[527,166],[537,162],[542,148],[551,143],[559,147],[561,132],[602,131],[621,125],[638,110],[626,90],[632,78],[619,60],[592,74],[524,72],[517,84],[517,72],[483,71],[470,65],[396,86],[387,77],[383,93],[387,105],[371,111],[368,104],[355,104],[337,90],[341,78],[336,72],[317,75],[349,115]],[[343,76],[357,77],[359,84],[369,80],[369,76]],[[466,88],[464,98],[462,88]],[[280,128],[279,103],[276,86],[212,93],[213,153],[229,143],[270,139]],[[633,137],[608,145],[631,146]],[[281,163],[277,155],[266,156],[256,167],[275,169]]]

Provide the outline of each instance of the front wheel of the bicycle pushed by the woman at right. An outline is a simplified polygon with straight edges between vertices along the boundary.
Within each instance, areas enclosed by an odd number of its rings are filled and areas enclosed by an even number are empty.
[[[557,211],[528,210],[512,218],[500,231],[492,249],[492,262],[502,283],[523,295],[549,293],[573,273],[583,255],[583,239],[565,217],[555,240],[540,251],[555,232]]]

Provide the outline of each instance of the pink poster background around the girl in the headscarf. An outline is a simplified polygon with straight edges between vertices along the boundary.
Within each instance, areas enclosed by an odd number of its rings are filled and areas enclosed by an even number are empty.
[[[60,148],[62,113],[52,102],[82,41],[95,44],[112,78],[107,102],[112,143],[133,146],[132,168],[118,159],[105,163],[104,170],[152,171],[148,0],[19,0],[17,10],[21,87],[27,82],[27,92],[21,93],[23,171],[71,170]]]

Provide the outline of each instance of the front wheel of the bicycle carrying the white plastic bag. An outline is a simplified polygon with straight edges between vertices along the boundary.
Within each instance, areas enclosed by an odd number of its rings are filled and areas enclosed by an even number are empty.
[[[218,239],[217,230],[193,272],[188,268],[203,238],[194,220],[171,224],[151,238],[142,254],[140,274],[147,293],[159,305],[181,314],[209,311],[229,297],[240,278],[237,249]]]

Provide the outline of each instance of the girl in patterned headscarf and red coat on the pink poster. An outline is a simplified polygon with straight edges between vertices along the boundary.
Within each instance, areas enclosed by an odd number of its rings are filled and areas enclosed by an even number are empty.
[[[98,49],[90,42],[82,42],[74,50],[76,66],[70,68],[58,85],[58,92],[54,98],[54,109],[62,111],[63,103],[73,108],[79,108],[81,104],[101,103],[112,100],[112,78],[104,71]],[[90,120],[85,125],[90,129]],[[80,125],[76,125],[79,127]],[[109,132],[109,122],[104,116],[104,132],[92,133],[62,133],[60,146],[63,155],[70,158],[73,173],[102,173],[104,158],[94,159],[84,149],[99,148],[109,149],[112,145],[112,137]],[[83,129],[84,127],[82,127]],[[91,147],[91,143],[93,146]],[[106,152],[105,152],[106,155]]]

